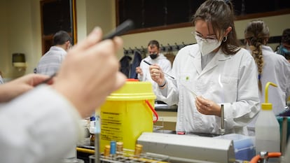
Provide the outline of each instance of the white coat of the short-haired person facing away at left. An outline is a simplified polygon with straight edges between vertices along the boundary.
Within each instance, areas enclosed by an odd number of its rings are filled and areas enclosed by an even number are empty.
[[[64,57],[67,55],[67,51],[63,48],[52,46],[50,50],[43,55],[39,61],[39,64],[36,67],[36,73],[45,74],[48,76],[57,73],[60,69],[60,64]]]

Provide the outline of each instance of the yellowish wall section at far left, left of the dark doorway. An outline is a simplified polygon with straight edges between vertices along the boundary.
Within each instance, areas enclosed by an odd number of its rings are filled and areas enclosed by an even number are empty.
[[[34,0],[35,1],[35,0]],[[25,71],[18,71],[12,66],[12,54],[22,52],[26,55],[27,70],[33,71],[33,64],[39,60],[37,56],[41,50],[39,6],[34,1],[1,1],[1,59],[0,69],[4,78],[17,78]],[[39,1],[39,0],[38,0]],[[3,37],[2,37],[3,36]]]

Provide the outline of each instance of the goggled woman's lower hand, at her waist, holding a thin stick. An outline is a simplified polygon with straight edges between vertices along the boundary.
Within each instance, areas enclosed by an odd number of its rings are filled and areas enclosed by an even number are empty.
[[[221,106],[214,103],[209,99],[205,99],[203,97],[196,97],[195,99],[196,109],[205,115],[217,115],[221,116]]]

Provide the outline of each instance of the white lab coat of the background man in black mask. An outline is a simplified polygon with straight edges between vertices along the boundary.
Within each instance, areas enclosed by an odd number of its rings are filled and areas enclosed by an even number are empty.
[[[165,73],[171,72],[171,68],[172,68],[171,62],[162,53],[159,53],[159,56],[156,59],[151,59],[151,57],[148,56],[148,57],[142,59],[142,61],[140,62],[140,68],[143,71],[143,76],[140,76],[140,74],[138,73],[138,79],[140,81],[151,82],[152,87],[153,87],[153,92],[156,92],[158,90],[158,84],[152,80],[151,74],[149,71],[149,65],[146,64],[143,60],[146,60],[147,62],[149,62],[151,64],[157,64],[158,66],[160,66],[160,68]]]

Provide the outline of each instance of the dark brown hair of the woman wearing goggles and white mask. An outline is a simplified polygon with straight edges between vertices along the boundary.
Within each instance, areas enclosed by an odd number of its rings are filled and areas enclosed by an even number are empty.
[[[205,20],[207,24],[211,23],[214,34],[216,34],[218,38],[221,38],[221,34],[223,34],[228,27],[232,27],[228,36],[224,37],[221,42],[221,50],[223,50],[226,55],[234,55],[240,50],[240,43],[237,41],[237,34],[235,33],[233,4],[230,0],[226,2],[221,0],[205,1],[198,10],[196,10],[195,15],[193,15],[193,24],[195,24],[197,20]]]

